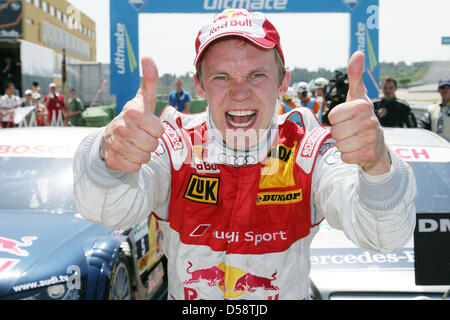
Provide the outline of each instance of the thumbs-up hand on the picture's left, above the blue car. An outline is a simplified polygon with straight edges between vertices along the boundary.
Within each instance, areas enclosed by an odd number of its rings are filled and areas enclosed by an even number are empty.
[[[142,58],[142,73],[136,97],[111,121],[102,137],[100,157],[110,168],[122,172],[138,172],[149,162],[164,133],[154,115],[158,68],[151,58]]]

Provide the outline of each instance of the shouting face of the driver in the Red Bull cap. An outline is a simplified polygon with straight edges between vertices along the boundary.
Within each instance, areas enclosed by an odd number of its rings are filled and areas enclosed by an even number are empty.
[[[196,89],[208,99],[212,120],[228,146],[236,145],[236,131],[259,137],[273,118],[277,98],[289,86],[286,73],[280,85],[278,65],[273,50],[264,50],[241,39],[227,39],[210,45],[202,63],[201,79],[195,77]],[[201,81],[201,83],[200,83]],[[227,135],[228,132],[228,135]]]

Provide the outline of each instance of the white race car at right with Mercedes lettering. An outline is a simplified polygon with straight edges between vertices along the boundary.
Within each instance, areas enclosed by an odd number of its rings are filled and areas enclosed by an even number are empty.
[[[414,237],[401,250],[380,254],[357,248],[342,231],[332,229],[326,220],[323,221],[311,245],[312,299],[441,300],[448,297],[450,241],[438,241],[433,247],[420,248],[431,252],[433,260],[443,260],[441,278],[420,281],[417,264],[418,247],[422,245],[419,238],[423,237],[421,225],[427,228],[427,237],[446,237],[450,232],[450,224],[446,225],[450,222],[450,143],[431,131],[417,128],[385,128],[384,135],[390,147],[414,170],[419,227],[416,226]],[[443,231],[441,234],[440,229]],[[433,235],[431,231],[438,231],[438,234]],[[428,257],[420,262],[428,267],[425,277],[430,278],[437,273],[437,262]]]

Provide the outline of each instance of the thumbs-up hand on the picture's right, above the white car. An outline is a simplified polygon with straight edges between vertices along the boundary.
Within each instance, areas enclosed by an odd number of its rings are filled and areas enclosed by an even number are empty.
[[[364,54],[355,52],[348,65],[347,101],[330,111],[331,136],[342,161],[358,164],[369,175],[389,172],[390,157],[383,130],[363,82]]]

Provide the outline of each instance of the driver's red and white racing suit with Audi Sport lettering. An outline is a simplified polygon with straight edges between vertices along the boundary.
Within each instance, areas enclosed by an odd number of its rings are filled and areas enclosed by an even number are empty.
[[[260,143],[230,150],[209,113],[161,114],[165,133],[136,174],[99,157],[103,130],[74,160],[77,208],[129,227],[155,213],[164,232],[169,299],[308,299],[310,244],[326,218],[357,246],[402,248],[415,225],[415,177],[394,152],[391,171],[368,176],[342,162],[306,108],[302,126],[275,115]]]

